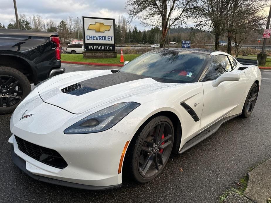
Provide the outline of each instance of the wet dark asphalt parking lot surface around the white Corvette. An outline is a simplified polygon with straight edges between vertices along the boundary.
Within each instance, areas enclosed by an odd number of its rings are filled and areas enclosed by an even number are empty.
[[[65,64],[67,72],[102,67]],[[114,68],[114,67],[106,67]],[[0,202],[218,202],[250,167],[271,157],[271,70],[249,118],[234,118],[195,147],[171,156],[158,178],[126,181],[107,191],[79,190],[34,180],[13,165],[8,138],[11,114],[0,115]]]

